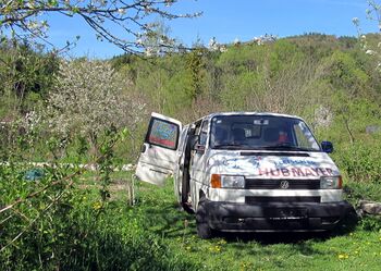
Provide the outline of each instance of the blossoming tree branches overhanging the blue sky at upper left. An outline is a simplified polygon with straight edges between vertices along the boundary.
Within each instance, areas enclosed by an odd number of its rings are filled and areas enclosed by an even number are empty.
[[[176,14],[171,5],[179,0],[0,0],[0,34],[20,39],[47,41],[48,14],[78,16],[95,32],[126,52],[142,53],[145,36],[156,35],[158,17],[174,20],[200,13]],[[173,39],[160,34],[159,47],[174,47]]]

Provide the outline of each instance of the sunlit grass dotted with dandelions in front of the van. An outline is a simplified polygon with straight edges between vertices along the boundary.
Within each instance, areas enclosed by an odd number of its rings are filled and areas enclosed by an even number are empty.
[[[381,233],[360,223],[331,235],[221,234],[200,239],[194,217],[180,210],[172,187],[172,182],[165,187],[140,184],[131,214],[195,270],[380,270]]]

